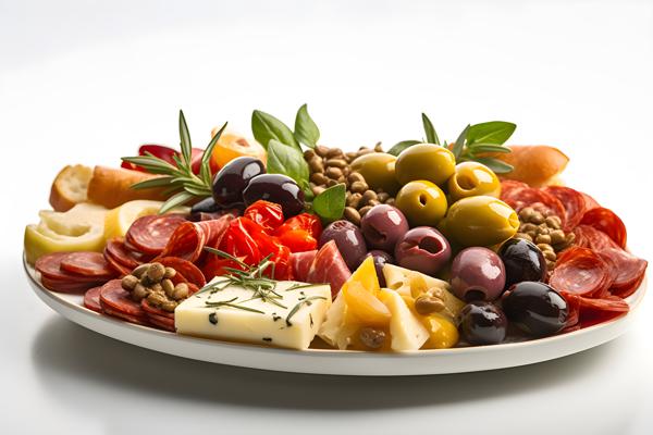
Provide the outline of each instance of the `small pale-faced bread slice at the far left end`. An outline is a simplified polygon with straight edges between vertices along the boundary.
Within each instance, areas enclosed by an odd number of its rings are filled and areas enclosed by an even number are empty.
[[[67,165],[57,174],[50,189],[50,206],[54,211],[69,211],[87,200],[93,170],[83,164]]]

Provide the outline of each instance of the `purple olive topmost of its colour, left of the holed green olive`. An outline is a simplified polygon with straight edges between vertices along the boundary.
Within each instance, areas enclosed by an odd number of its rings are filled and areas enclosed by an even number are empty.
[[[408,231],[408,221],[399,209],[379,204],[365,213],[360,220],[360,231],[370,248],[392,251]]]

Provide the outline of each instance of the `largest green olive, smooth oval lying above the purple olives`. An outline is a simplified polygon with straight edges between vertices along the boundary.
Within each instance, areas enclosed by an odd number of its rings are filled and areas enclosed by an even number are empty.
[[[489,196],[463,198],[449,207],[440,229],[463,247],[493,246],[517,233],[519,217],[504,201]]]

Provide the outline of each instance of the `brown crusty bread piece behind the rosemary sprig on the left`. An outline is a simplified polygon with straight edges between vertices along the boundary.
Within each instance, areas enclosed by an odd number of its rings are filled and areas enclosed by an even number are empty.
[[[90,202],[113,209],[135,199],[151,199],[164,201],[168,196],[165,188],[133,189],[135,183],[151,179],[160,175],[125,170],[122,167],[95,166],[93,177],[88,183],[87,198]]]

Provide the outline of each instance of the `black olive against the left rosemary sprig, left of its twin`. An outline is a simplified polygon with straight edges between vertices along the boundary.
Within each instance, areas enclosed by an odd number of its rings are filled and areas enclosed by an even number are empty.
[[[243,202],[243,190],[251,178],[264,173],[259,159],[239,157],[230,161],[213,177],[213,199],[222,207]]]

